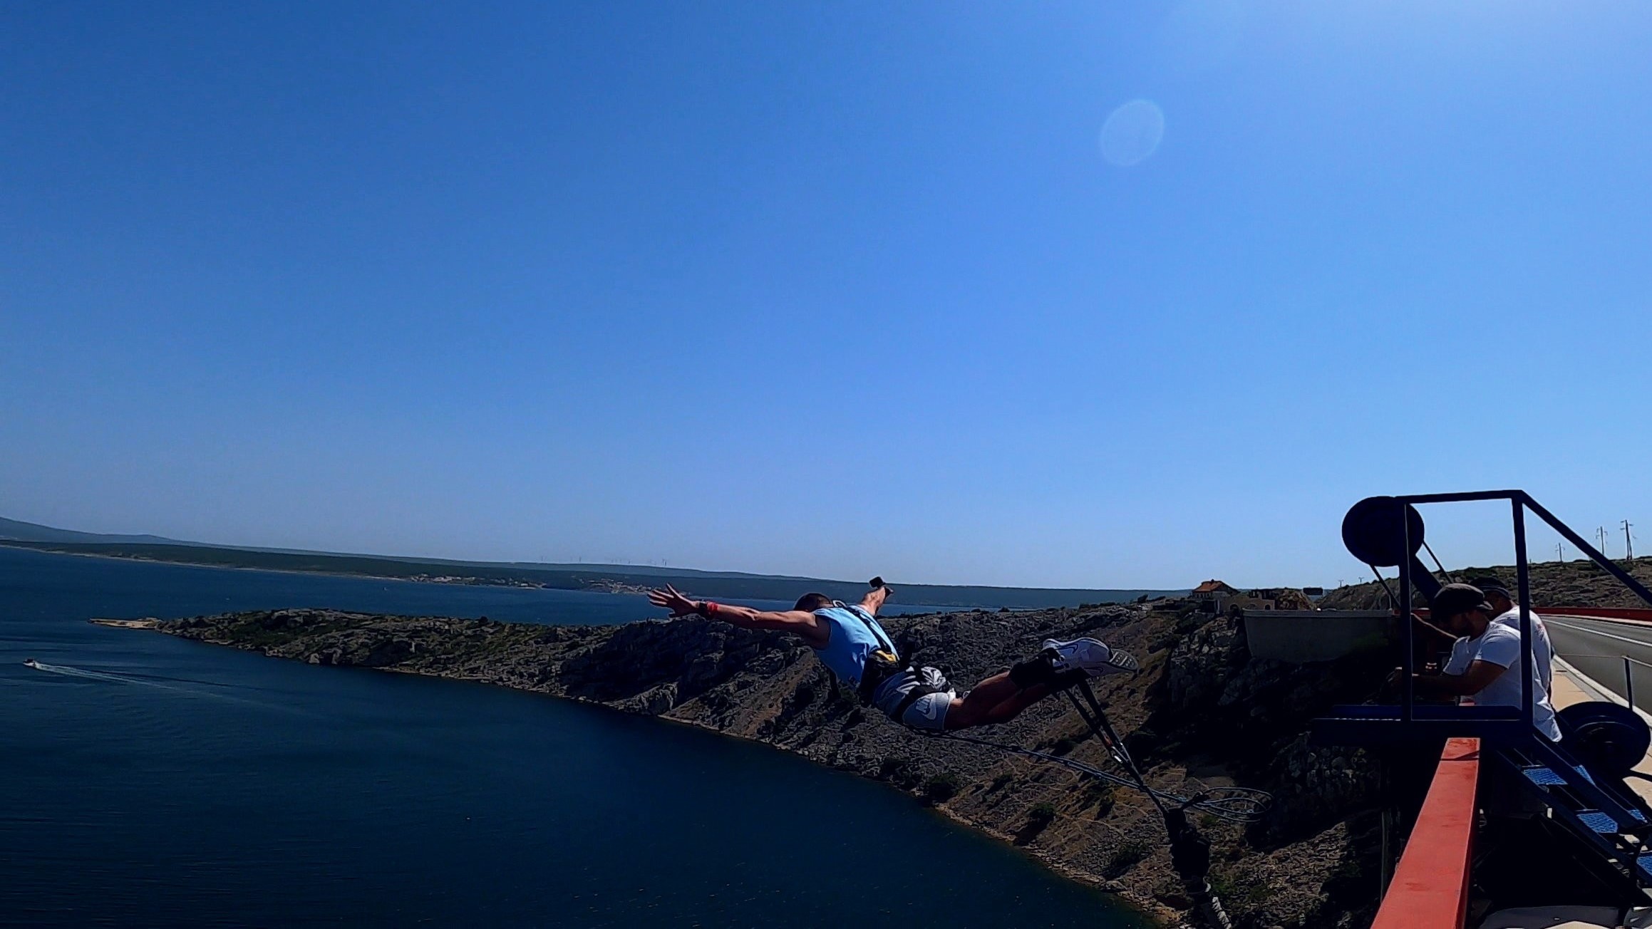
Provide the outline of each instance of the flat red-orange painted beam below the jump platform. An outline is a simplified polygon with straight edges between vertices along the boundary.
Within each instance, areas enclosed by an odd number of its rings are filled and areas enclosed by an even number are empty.
[[[1480,739],[1449,739],[1371,929],[1462,929]]]

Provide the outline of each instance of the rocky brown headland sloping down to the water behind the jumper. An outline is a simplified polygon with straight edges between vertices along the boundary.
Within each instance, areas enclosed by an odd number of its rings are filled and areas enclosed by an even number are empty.
[[[1272,790],[1247,828],[1199,822],[1214,843],[1211,879],[1241,927],[1370,922],[1378,893],[1376,766],[1361,752],[1307,744],[1307,719],[1371,693],[1388,662],[1290,667],[1251,658],[1237,620],[1148,607],[965,612],[894,619],[919,662],[957,683],[1004,668],[1047,635],[1100,635],[1143,660],[1099,696],[1148,780]],[[1170,922],[1189,901],[1143,797],[978,746],[907,733],[839,693],[809,650],[773,632],[705,619],[555,627],[334,611],[248,612],[154,622],[162,632],[320,665],[487,681],[666,716],[768,743],[889,782],[1099,883]],[[991,738],[1108,766],[1072,710],[1034,706]]]

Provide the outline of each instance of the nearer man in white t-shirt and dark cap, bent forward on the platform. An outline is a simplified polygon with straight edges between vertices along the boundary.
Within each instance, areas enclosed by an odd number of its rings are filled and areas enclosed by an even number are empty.
[[[1507,602],[1507,591],[1503,591]],[[1452,647],[1450,660],[1437,675],[1416,675],[1419,696],[1472,696],[1477,706],[1520,706],[1520,673],[1508,673],[1523,658],[1520,647],[1520,611],[1513,622],[1503,622],[1508,611],[1487,602],[1485,591],[1470,584],[1446,584],[1434,596],[1431,619],[1462,639]],[[1546,672],[1553,662],[1548,634],[1533,615],[1531,652],[1531,724],[1553,741],[1559,741],[1555,706],[1550,703]]]

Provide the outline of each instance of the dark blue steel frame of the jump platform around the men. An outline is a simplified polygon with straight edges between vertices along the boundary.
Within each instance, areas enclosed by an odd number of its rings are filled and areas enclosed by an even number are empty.
[[[1526,561],[1526,510],[1536,513],[1545,523],[1558,531],[1566,541],[1578,546],[1578,551],[1589,556],[1591,561],[1604,568],[1609,574],[1622,581],[1626,587],[1635,592],[1642,601],[1652,606],[1652,591],[1647,591],[1639,581],[1629,576],[1627,571],[1612,564],[1609,558],[1594,549],[1593,545],[1583,541],[1583,536],[1571,531],[1566,523],[1555,518],[1553,513],[1545,510],[1536,500],[1531,498],[1525,490],[1477,490],[1470,493],[1414,493],[1411,497],[1394,497],[1398,503],[1396,512],[1399,513],[1399,535],[1404,540],[1404,553],[1412,551],[1411,545],[1411,525],[1406,520],[1406,513],[1412,505],[1417,503],[1467,503],[1477,500],[1508,500],[1513,513],[1515,526],[1515,571],[1518,574],[1518,596],[1520,596],[1520,647],[1521,662],[1525,668],[1531,667],[1531,571]],[[1421,545],[1421,540],[1417,541]],[[1416,705],[1416,686],[1412,675],[1416,673],[1416,629],[1411,622],[1411,558],[1401,558],[1399,561],[1399,609],[1403,612],[1401,625],[1404,627],[1406,639],[1406,673],[1404,686],[1401,688],[1399,713],[1391,713],[1391,706],[1338,706],[1335,718],[1315,719],[1313,736],[1317,741],[1332,744],[1371,744],[1371,743],[1391,743],[1391,741],[1411,741],[1422,738],[1455,738],[1455,736],[1482,736],[1482,738],[1523,738],[1533,731],[1531,724],[1531,675],[1523,675],[1520,681],[1520,710],[1518,716],[1508,708],[1498,706],[1437,706],[1424,705],[1422,713],[1417,713]]]

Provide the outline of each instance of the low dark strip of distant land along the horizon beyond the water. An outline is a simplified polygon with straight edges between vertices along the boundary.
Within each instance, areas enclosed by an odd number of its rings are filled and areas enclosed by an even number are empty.
[[[13,531],[21,526],[25,531]],[[320,574],[357,574],[403,581],[446,584],[496,584],[514,587],[550,587],[562,591],[634,592],[664,582],[694,597],[743,601],[791,601],[806,591],[819,591],[838,599],[857,599],[864,581],[793,578],[780,574],[747,574],[740,571],[695,571],[691,568],[653,568],[639,564],[535,564],[519,561],[453,561],[443,558],[393,558],[382,554],[345,554],[330,551],[294,551],[269,548],[225,548],[175,541],[160,536],[109,536],[55,530],[17,520],[0,520],[0,545],[134,558],[175,564],[215,568],[259,568],[266,571],[306,571]],[[1079,587],[986,587],[953,584],[895,586],[895,601],[937,607],[1013,607],[1042,609],[1079,604],[1110,604],[1142,596],[1176,596],[1186,591],[1148,589],[1079,589]]]

